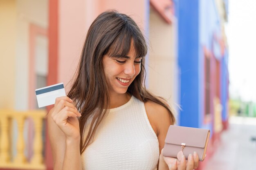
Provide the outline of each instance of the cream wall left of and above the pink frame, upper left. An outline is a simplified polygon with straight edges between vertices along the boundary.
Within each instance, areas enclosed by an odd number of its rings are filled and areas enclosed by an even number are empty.
[[[17,53],[15,109],[27,110],[29,102],[29,25],[48,28],[48,0],[17,0]]]

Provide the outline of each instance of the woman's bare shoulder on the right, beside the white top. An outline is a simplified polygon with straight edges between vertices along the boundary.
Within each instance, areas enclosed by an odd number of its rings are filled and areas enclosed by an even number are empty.
[[[148,120],[157,135],[173,124],[171,113],[164,106],[153,101],[147,101],[144,105]]]

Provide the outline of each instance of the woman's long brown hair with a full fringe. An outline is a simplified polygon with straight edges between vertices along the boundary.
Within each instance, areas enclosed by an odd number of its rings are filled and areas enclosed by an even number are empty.
[[[103,12],[88,30],[76,77],[67,95],[76,101],[76,107],[82,115],[79,118],[81,154],[92,141],[97,127],[108,114],[110,107],[102,57],[105,54],[109,56],[127,55],[131,42],[135,47],[136,55],[142,57],[141,72],[128,87],[127,92],[142,102],[150,100],[164,106],[170,112],[172,122],[175,122],[170,106],[146,90],[144,58],[147,54],[147,44],[139,27],[125,14],[117,11]],[[92,123],[89,123],[89,119]],[[84,129],[87,125],[90,126],[88,133],[85,134]]]

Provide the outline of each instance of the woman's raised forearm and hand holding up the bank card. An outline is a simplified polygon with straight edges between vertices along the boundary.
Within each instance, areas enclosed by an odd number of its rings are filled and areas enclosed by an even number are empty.
[[[57,98],[47,116],[54,170],[81,170],[80,132],[77,116],[81,114],[68,97]]]

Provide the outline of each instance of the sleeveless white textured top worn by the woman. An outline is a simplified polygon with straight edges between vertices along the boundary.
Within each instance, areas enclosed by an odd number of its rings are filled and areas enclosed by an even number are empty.
[[[110,109],[81,159],[83,170],[157,170],[159,143],[144,102],[132,96]]]

